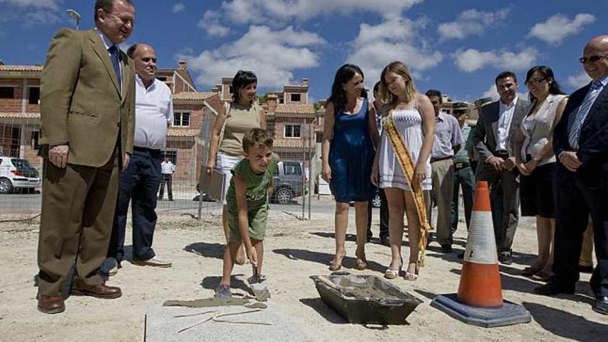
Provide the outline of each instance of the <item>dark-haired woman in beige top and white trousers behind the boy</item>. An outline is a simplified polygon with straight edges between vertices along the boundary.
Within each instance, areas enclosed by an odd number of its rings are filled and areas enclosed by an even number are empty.
[[[225,175],[225,193],[222,196],[222,225],[228,238],[228,213],[226,192],[232,178],[231,169],[243,159],[243,136],[251,129],[266,129],[264,110],[256,104],[258,79],[251,71],[238,70],[232,79],[233,102],[226,115],[218,115],[213,124],[213,134],[207,158],[207,173],[218,169]],[[223,131],[223,132],[222,132]],[[222,135],[220,137],[220,135]],[[221,140],[221,141],[220,141]],[[241,245],[236,254],[236,263],[245,263],[245,253]]]

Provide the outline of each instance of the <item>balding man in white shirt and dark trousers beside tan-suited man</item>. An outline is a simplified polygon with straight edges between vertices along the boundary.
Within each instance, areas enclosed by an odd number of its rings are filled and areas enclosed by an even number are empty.
[[[167,143],[167,127],[173,120],[171,89],[155,79],[156,53],[152,46],[135,44],[127,55],[135,63],[135,137],[129,166],[120,173],[118,200],[112,237],[104,271],[117,272],[124,259],[126,213],[131,201],[133,214],[133,263],[170,267],[155,257],[152,240],[156,226],[156,191],[162,179],[162,150]]]

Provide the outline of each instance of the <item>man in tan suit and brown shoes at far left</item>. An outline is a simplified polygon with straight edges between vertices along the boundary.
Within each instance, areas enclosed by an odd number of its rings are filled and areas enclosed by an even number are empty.
[[[61,29],[41,78],[44,158],[38,245],[38,310],[65,310],[71,294],[117,298],[99,276],[112,231],[119,169],[133,151],[133,61],[117,44],[135,20],[130,0],[97,0],[95,26]],[[75,267],[74,278],[68,277]]]

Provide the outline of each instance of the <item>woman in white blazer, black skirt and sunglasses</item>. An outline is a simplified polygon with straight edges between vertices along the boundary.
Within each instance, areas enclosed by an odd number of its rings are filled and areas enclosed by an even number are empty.
[[[515,138],[515,163],[521,175],[522,216],[536,216],[538,258],[522,275],[548,281],[553,275],[555,231],[555,167],[553,128],[560,121],[567,97],[548,66],[528,70],[530,106]]]

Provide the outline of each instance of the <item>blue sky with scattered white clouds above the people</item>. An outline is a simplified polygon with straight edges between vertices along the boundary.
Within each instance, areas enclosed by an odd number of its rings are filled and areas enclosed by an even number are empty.
[[[334,73],[358,64],[371,88],[383,66],[404,61],[420,91],[455,100],[494,95],[502,70],[520,77],[543,64],[564,91],[588,79],[578,57],[608,34],[602,1],[447,0],[134,0],[135,29],[125,46],[152,44],[160,67],[189,61],[199,91],[239,68],[254,70],[260,93],[310,79],[312,99],[329,95]],[[53,32],[93,27],[94,0],[0,0],[0,59],[44,64]],[[602,29],[603,27],[603,29]]]

